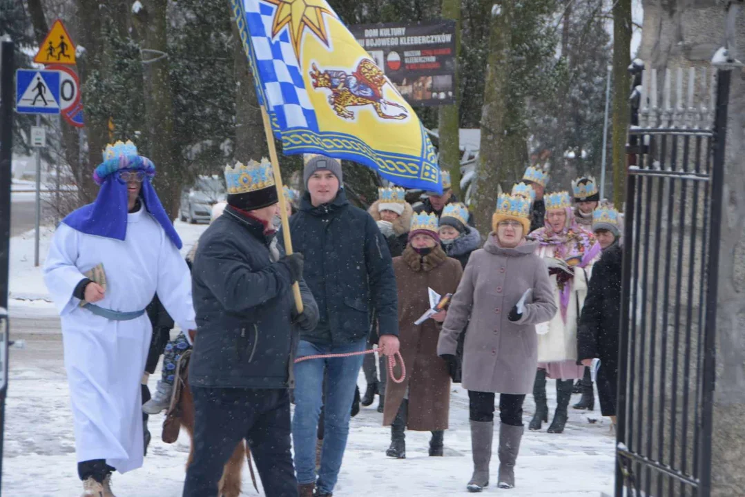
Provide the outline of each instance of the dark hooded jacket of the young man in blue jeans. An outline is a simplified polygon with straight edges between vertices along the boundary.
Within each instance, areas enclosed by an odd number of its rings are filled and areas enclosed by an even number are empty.
[[[352,206],[343,189],[314,207],[306,191],[290,219],[294,250],[305,256],[303,277],[320,320],[300,338],[350,344],[370,332],[371,309],[381,335],[399,334],[398,293],[388,244],[370,214]]]

